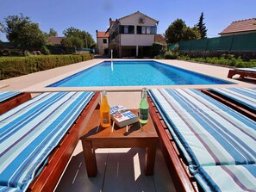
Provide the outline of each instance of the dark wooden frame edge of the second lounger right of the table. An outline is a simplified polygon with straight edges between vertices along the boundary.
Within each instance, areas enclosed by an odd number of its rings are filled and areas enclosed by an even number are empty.
[[[222,102],[223,104],[227,105],[229,108],[233,108],[234,110],[238,111],[242,115],[246,115],[253,121],[256,121],[256,114],[253,112],[253,109],[247,108],[246,106],[240,104],[240,102],[236,102],[234,100],[229,99],[227,96],[222,96],[217,94],[213,91],[209,90],[201,90],[204,94],[211,96],[215,100]]]

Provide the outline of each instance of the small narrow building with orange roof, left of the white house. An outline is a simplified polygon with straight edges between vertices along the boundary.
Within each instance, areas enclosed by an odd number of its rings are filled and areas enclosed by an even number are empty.
[[[96,31],[97,34],[97,53],[109,54],[109,32]]]

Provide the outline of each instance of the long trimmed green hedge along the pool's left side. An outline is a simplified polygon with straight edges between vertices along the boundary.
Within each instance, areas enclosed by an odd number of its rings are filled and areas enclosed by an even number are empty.
[[[71,65],[93,59],[91,54],[39,55],[31,57],[0,58],[0,80],[44,71],[59,66]]]

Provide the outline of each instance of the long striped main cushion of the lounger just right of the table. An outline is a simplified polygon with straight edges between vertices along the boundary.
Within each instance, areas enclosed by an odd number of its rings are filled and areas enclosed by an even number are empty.
[[[191,89],[149,90],[190,170],[256,163],[256,122]]]

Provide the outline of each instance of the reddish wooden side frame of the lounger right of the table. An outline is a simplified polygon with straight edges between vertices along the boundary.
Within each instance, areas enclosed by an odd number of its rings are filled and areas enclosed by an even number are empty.
[[[150,96],[148,98],[149,112],[153,120],[153,124],[159,134],[159,143],[163,152],[165,162],[172,177],[177,191],[197,191],[197,184],[194,177],[190,176],[189,170],[183,162],[178,152],[172,135],[166,127],[158,109],[154,105]]]

